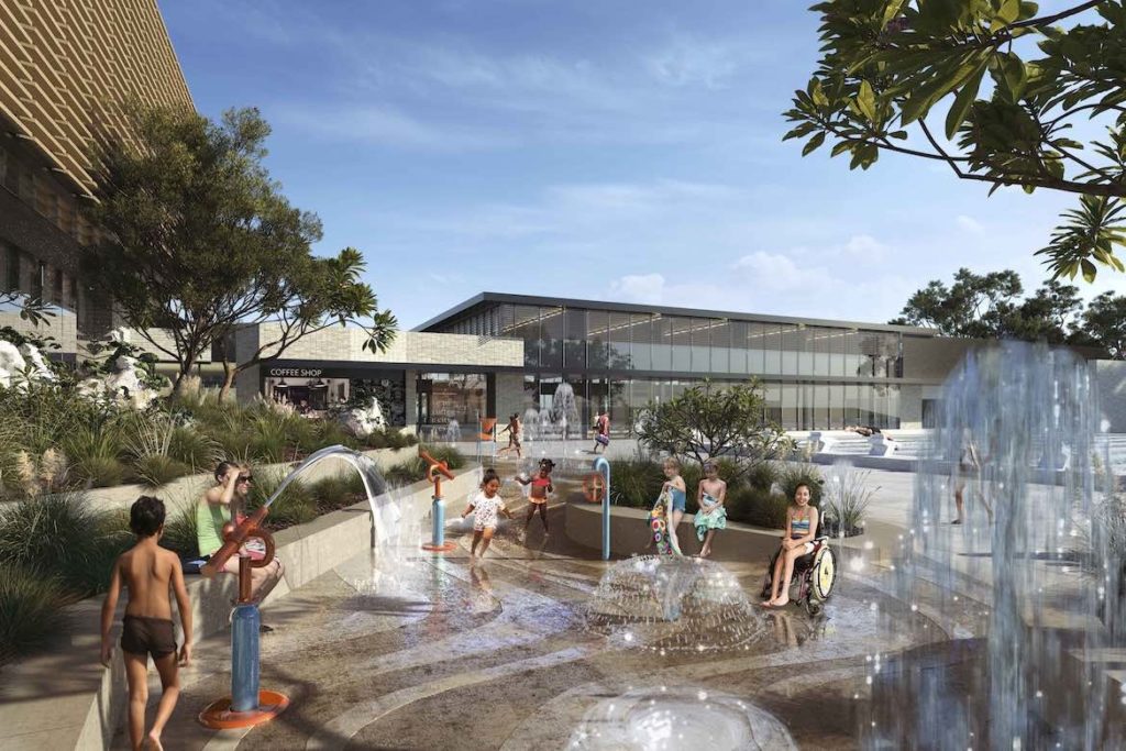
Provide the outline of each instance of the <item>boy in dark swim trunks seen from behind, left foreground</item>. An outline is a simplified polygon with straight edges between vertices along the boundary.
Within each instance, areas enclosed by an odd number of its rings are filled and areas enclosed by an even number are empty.
[[[129,690],[129,742],[133,749],[162,749],[160,734],[164,730],[176,699],[180,695],[177,670],[176,627],[168,591],[176,592],[176,605],[184,624],[184,646],[179,664],[191,660],[191,605],[184,587],[180,558],[157,543],[164,533],[164,503],[159,498],[142,495],[129,509],[129,528],[137,543],[114,563],[109,593],[101,606],[101,664],[109,667],[114,646],[109,631],[124,584],[129,591],[122,622],[122,653]],[[145,705],[149,701],[149,655],[160,673],[163,690],[157,717],[148,736],[144,733]]]

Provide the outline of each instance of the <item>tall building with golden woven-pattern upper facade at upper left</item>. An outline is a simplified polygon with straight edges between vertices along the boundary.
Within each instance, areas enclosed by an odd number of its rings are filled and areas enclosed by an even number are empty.
[[[80,211],[95,199],[89,154],[127,136],[126,101],[191,107],[155,0],[0,0],[0,292],[100,333],[109,306],[78,269],[97,232]]]

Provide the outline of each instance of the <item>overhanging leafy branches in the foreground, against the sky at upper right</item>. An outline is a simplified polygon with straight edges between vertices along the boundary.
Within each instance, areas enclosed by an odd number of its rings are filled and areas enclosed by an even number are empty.
[[[1126,244],[1123,0],[1047,16],[1025,0],[830,0],[812,10],[822,56],[785,113],[796,124],[786,138],[810,136],[803,155],[831,140],[851,169],[888,151],[946,163],[991,194],[1079,194],[1038,254],[1054,279],[1124,269],[1115,254]],[[1096,12],[1101,24],[1079,23]],[[948,102],[942,131],[931,117],[939,102]],[[1071,128],[1088,120],[1106,135],[1075,140]]]

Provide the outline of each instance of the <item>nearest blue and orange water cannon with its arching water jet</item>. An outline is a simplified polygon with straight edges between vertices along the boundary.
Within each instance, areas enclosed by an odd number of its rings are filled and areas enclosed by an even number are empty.
[[[199,714],[199,722],[215,730],[252,727],[269,722],[285,712],[289,699],[278,691],[260,688],[261,664],[259,661],[259,628],[261,616],[258,602],[251,599],[250,570],[267,566],[274,561],[274,537],[262,527],[270,506],[285,489],[305,470],[328,458],[343,459],[359,472],[372,508],[373,546],[386,547],[396,537],[401,512],[391,503],[386,483],[369,457],[343,446],[330,446],[311,454],[291,472],[262,506],[247,517],[242,524],[226,525],[223,530],[223,546],[204,565],[206,578],[223,571],[223,565],[232,555],[239,555],[239,599],[231,615],[231,696],[221,698]],[[266,547],[261,561],[252,562],[249,555],[240,554],[248,539],[259,539]]]

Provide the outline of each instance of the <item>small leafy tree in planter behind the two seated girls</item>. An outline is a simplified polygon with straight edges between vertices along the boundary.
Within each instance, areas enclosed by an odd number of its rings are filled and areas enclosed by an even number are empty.
[[[743,474],[756,464],[786,456],[794,444],[766,415],[758,381],[715,386],[709,381],[663,403],[651,403],[637,421],[637,440],[651,452],[667,452],[700,464],[730,457]]]

